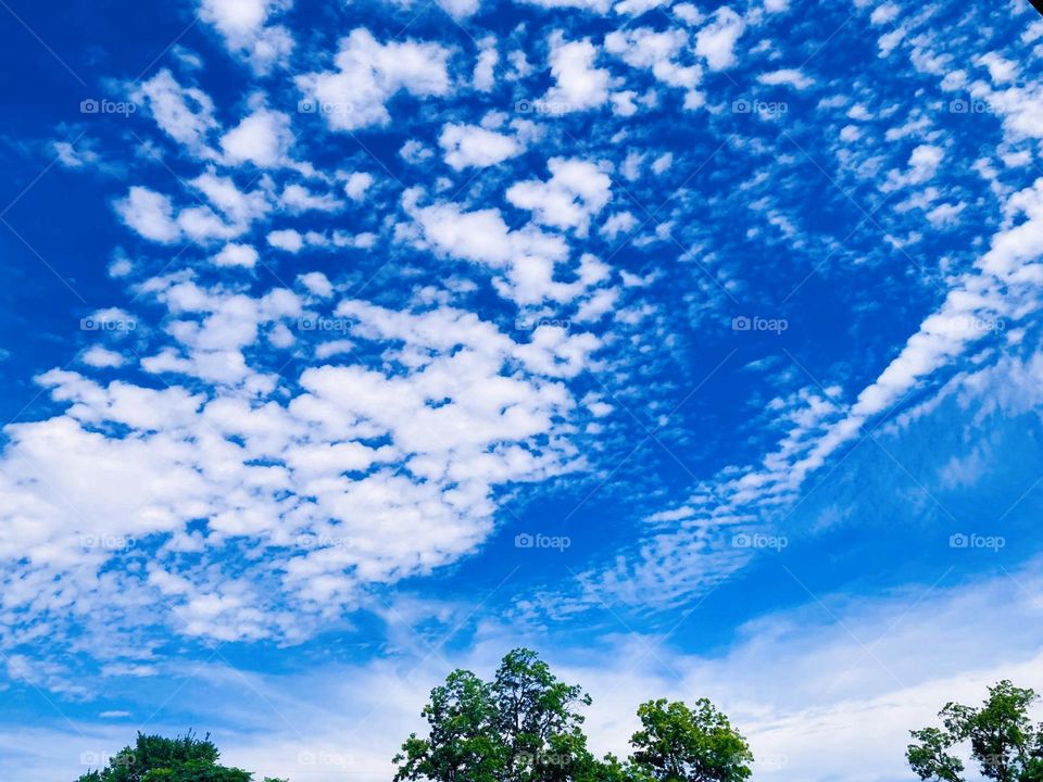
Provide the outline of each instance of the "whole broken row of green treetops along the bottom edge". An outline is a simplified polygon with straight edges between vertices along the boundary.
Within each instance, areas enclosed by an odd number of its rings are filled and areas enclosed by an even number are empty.
[[[925,782],[965,782],[971,758],[996,782],[1043,782],[1043,724],[1029,708],[1032,690],[1004,680],[981,707],[946,704],[940,728],[910,731],[910,770]],[[431,690],[420,716],[424,736],[411,733],[391,758],[393,782],[743,782],[754,756],[742,733],[706,698],[650,699],[638,707],[640,728],[628,754],[598,757],[583,732],[592,701],[578,684],[557,679],[528,648],[502,659],[492,680],[457,669]],[[254,782],[254,774],[219,764],[210,735],[167,739],[138,733],[103,769],[76,782]],[[290,782],[264,777],[263,782]]]

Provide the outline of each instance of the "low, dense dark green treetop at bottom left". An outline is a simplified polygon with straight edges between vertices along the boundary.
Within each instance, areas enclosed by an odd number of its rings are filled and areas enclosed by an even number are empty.
[[[189,731],[166,739],[139,732],[133,747],[124,747],[105,768],[88,771],[77,782],[252,782],[253,774],[218,765],[219,757],[210,734],[199,739]]]

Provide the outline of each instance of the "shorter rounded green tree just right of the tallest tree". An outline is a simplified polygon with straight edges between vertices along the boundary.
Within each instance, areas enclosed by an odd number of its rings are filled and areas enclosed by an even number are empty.
[[[694,708],[665,698],[638,707],[633,766],[655,782],[742,782],[752,773],[746,740],[706,698]]]

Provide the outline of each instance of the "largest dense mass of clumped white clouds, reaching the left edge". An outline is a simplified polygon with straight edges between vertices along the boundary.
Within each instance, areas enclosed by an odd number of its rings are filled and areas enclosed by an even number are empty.
[[[332,292],[322,275],[302,282],[318,297]],[[404,371],[313,366],[287,395],[288,381],[254,369],[246,351],[294,323],[297,338],[324,341],[322,327],[309,326],[322,321],[303,318],[294,294],[250,298],[176,280],[151,290],[169,310],[174,340],[142,361],[164,377],[162,390],[53,370],[41,381],[64,414],[7,430],[2,458],[13,468],[0,479],[0,562],[22,564],[7,571],[5,600],[46,601],[41,620],[54,611],[75,620],[118,590],[127,600],[108,603],[95,621],[129,614],[138,626],[152,607],[135,601],[158,594],[188,634],[307,632],[309,616],[339,614],[367,585],[473,550],[492,528],[495,487],[560,472],[573,458],[553,422],[573,409],[560,379],[586,365],[599,344],[590,335],[541,326],[517,343],[458,310],[342,301],[335,342],[350,335],[380,346]],[[205,392],[186,390],[185,377]],[[110,437],[112,427],[124,432]],[[387,444],[367,444],[374,440]],[[189,533],[200,518],[205,530]],[[126,541],[147,538],[162,544],[147,571],[97,579]],[[311,543],[327,539],[351,544]],[[241,558],[246,571],[224,573],[224,557],[241,557],[240,545],[266,554],[256,567]],[[202,557],[198,566],[178,559],[186,547]],[[51,580],[73,569],[68,580]],[[66,603],[62,591],[83,603]],[[282,613],[288,605],[296,618]]]

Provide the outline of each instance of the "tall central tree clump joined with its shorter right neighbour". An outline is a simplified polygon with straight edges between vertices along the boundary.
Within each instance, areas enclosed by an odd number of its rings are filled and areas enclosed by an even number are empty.
[[[395,755],[395,782],[742,782],[745,740],[708,701],[695,709],[652,701],[626,761],[596,758],[581,709],[590,696],[558,680],[535,652],[514,649],[492,681],[456,670],[431,691],[415,733]]]

